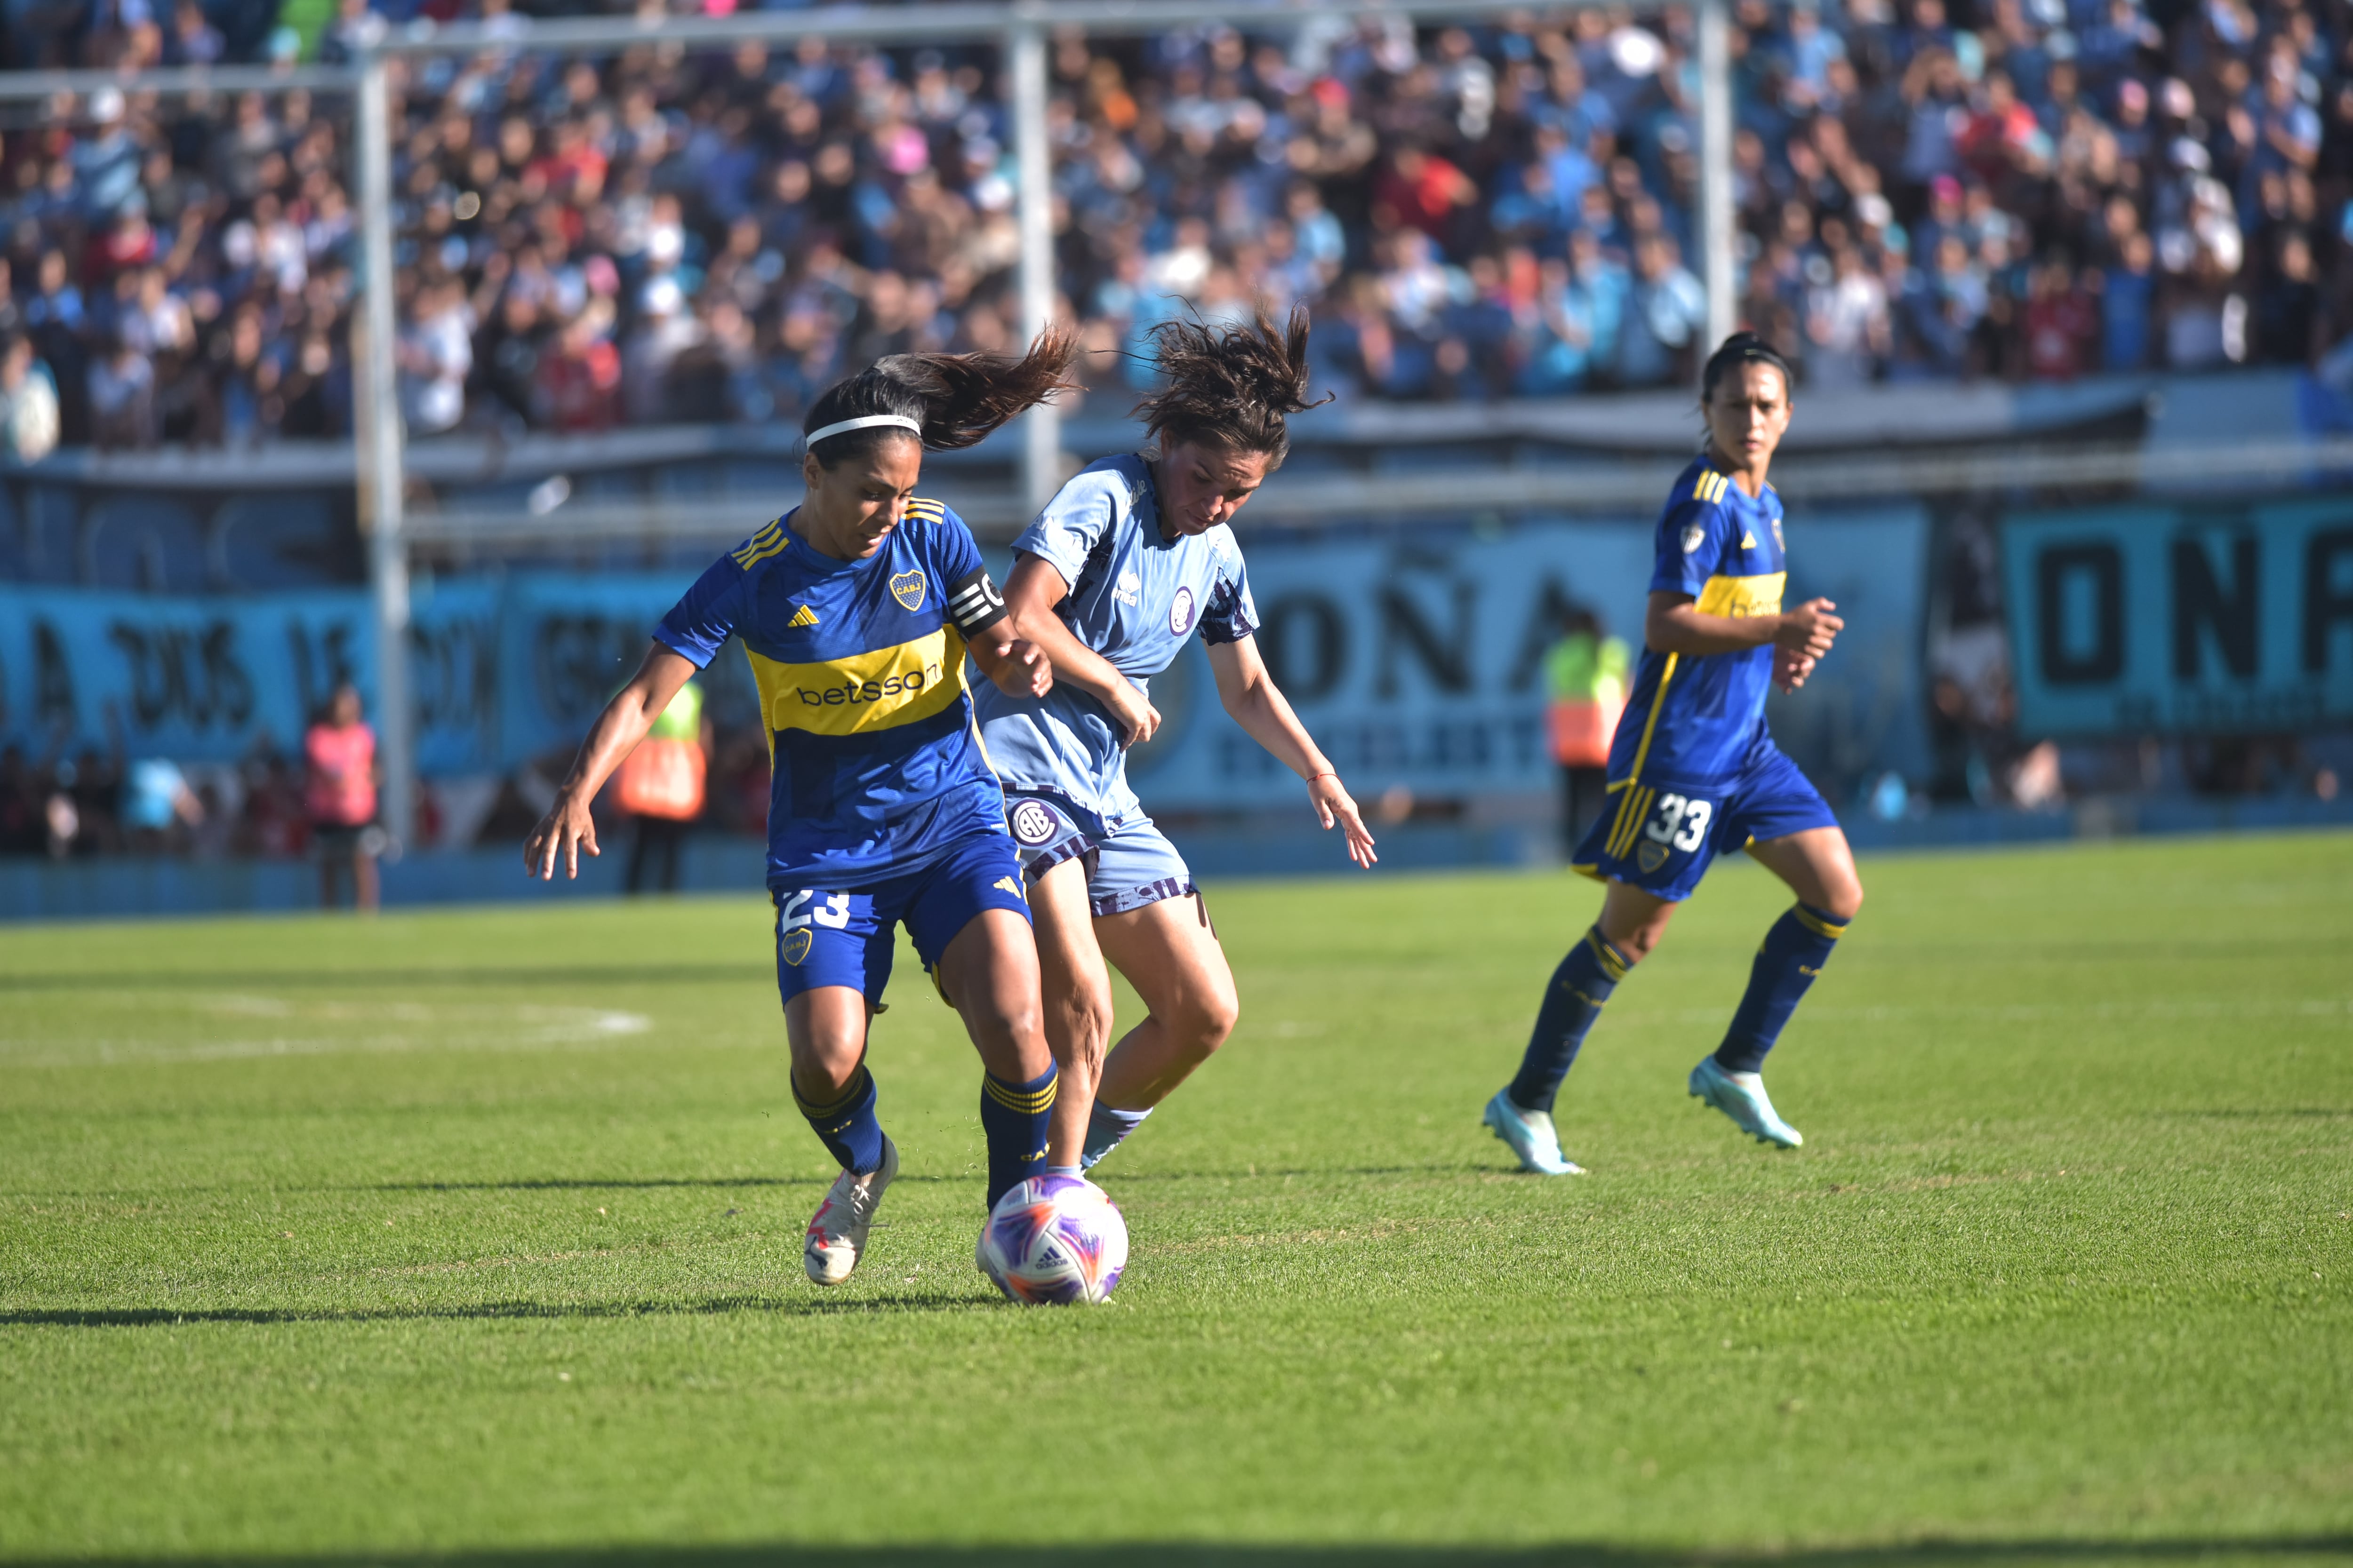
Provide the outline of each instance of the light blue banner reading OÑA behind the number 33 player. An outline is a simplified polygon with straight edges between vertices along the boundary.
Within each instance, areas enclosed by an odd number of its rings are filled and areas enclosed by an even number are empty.
[[[1774,701],[1777,736],[1833,799],[1882,769],[1920,778],[1925,512],[1795,520],[1788,552],[1791,599],[1838,599],[1847,630],[1805,691]],[[1652,524],[1327,536],[1245,543],[1245,555],[1268,668],[1348,788],[1471,799],[1555,788],[1544,731],[1555,614],[1591,609],[1640,649]],[[1297,799],[1289,771],[1219,710],[1198,644],[1153,682],[1153,703],[1160,736],[1129,759],[1146,806]]]

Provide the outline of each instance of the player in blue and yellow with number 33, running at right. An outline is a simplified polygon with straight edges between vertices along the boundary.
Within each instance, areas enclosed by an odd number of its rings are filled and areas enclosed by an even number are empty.
[[[1798,903],[1748,966],[1725,1044],[1689,1091],[1758,1143],[1798,1147],[1760,1074],[1781,1025],[1864,905],[1838,818],[1765,729],[1769,686],[1805,684],[1842,621],[1828,599],[1781,609],[1781,498],[1765,482],[1788,430],[1788,364],[1739,331],[1701,376],[1708,444],[1659,517],[1642,663],[1609,748],[1605,811],[1577,870],[1607,884],[1602,914],[1553,971],[1520,1074],[1485,1121],[1520,1164],[1577,1175],[1553,1128],[1553,1095],[1626,971],[1666,936],[1708,863],[1746,849]]]

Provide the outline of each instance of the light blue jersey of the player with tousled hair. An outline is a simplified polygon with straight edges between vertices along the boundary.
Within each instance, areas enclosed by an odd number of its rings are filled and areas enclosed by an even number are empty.
[[[1061,574],[1071,592],[1054,614],[1139,689],[1195,630],[1205,642],[1259,630],[1233,529],[1165,538],[1151,463],[1136,454],[1080,470],[1014,550]],[[1144,816],[1127,788],[1122,731],[1092,696],[1061,682],[1042,698],[1005,696],[988,682],[972,696],[988,764],[1009,795],[1061,802],[1094,835]]]

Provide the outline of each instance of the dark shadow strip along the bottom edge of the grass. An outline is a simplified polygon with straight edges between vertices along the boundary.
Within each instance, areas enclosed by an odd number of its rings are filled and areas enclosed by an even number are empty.
[[[1675,1549],[1617,1544],[1558,1547],[1259,1547],[1212,1542],[1120,1542],[1101,1547],[548,1547],[536,1552],[449,1552],[351,1556],[89,1556],[14,1559],[45,1568],[760,1568],[760,1563],[842,1563],[845,1568],[2026,1568],[2028,1563],[2195,1563],[2341,1561],[2353,1535],[2160,1537],[2160,1540],[1925,1540],[1880,1547]]]

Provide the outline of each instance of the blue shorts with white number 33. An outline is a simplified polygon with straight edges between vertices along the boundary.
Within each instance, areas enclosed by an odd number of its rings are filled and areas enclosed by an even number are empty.
[[[1838,827],[1838,818],[1798,764],[1762,741],[1734,778],[1697,785],[1645,778],[1617,790],[1617,811],[1593,825],[1572,867],[1682,903],[1715,856],[1807,827]]]

